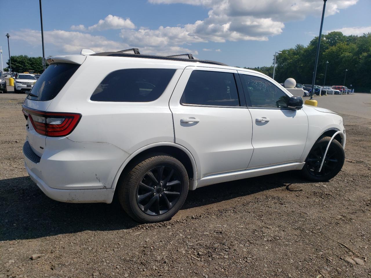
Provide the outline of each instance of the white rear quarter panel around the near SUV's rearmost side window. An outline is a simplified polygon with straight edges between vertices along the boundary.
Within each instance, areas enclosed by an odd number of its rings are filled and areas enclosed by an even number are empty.
[[[109,73],[119,69],[176,69],[164,93],[152,102],[94,102],[90,97]],[[81,113],[67,137],[75,142],[110,143],[131,154],[157,142],[174,142],[169,99],[184,66],[174,63],[138,62],[138,59],[88,56],[75,75],[49,105],[49,112]]]

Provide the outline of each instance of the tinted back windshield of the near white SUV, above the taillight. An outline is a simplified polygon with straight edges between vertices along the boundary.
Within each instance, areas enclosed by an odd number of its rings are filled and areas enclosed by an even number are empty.
[[[68,63],[49,65],[31,90],[32,94],[37,95],[37,97],[29,95],[28,98],[41,101],[55,98],[79,66],[79,64]]]

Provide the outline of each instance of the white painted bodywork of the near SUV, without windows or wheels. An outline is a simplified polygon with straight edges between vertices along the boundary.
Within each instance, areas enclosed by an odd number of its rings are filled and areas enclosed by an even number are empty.
[[[122,170],[142,151],[173,146],[190,158],[190,189],[236,179],[301,169],[315,141],[327,130],[341,131],[341,116],[304,105],[299,110],[181,105],[193,70],[259,76],[235,67],[194,62],[66,55],[48,62],[81,64],[59,94],[49,101],[28,98],[24,106],[46,112],[81,113],[65,137],[40,135],[28,120],[27,141],[40,157],[24,156],[30,177],[52,199],[110,203]],[[164,93],[152,102],[94,102],[90,97],[106,75],[119,69],[175,69]],[[256,121],[267,118],[269,121]],[[191,119],[195,119],[193,122]]]

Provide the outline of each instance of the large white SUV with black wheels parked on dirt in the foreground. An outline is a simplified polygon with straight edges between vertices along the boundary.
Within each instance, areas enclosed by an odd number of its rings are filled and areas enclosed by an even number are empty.
[[[325,181],[344,163],[342,117],[303,106],[262,73],[138,52],[47,62],[24,100],[23,153],[57,201],[111,203],[116,193],[132,218],[158,222],[188,190],[288,170]]]

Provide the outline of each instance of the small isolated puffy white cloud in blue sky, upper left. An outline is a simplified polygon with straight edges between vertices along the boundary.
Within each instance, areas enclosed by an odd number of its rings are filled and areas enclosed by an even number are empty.
[[[134,29],[135,24],[132,23],[132,21],[127,18],[123,19],[119,16],[112,16],[112,14],[109,14],[106,16],[105,19],[101,19],[98,21],[97,24],[94,24],[93,26],[85,27],[84,25],[72,25],[71,30],[75,31],[102,31],[102,30],[109,30],[109,29]]]

